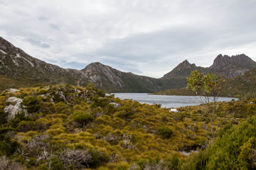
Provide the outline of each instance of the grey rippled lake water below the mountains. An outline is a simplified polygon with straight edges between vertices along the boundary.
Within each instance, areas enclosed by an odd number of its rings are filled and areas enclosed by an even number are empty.
[[[202,104],[202,100],[198,96],[162,96],[162,95],[148,95],[147,93],[113,93],[115,97],[120,99],[132,99],[140,103],[147,104],[162,104],[166,108],[179,108],[183,106],[195,106]],[[218,97],[218,101],[231,101],[230,97]]]

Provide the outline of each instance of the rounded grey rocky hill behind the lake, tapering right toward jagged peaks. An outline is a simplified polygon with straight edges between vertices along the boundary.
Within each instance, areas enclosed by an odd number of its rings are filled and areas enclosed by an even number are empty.
[[[170,87],[179,87],[179,83],[182,82],[180,78],[162,80],[125,73],[100,62],[93,62],[81,71],[90,82],[111,92],[156,92]]]

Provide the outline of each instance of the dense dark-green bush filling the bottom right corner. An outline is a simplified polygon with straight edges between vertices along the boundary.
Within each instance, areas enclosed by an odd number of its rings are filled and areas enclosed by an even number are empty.
[[[214,144],[191,154],[184,169],[255,169],[256,117],[239,125],[227,124]]]

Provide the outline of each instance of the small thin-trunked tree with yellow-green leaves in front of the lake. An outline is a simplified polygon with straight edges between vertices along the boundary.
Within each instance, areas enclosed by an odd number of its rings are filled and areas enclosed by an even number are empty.
[[[187,89],[195,92],[200,96],[200,99],[204,101],[209,111],[209,118],[211,121],[211,132],[212,138],[214,139],[214,127],[213,120],[216,112],[216,102],[220,96],[221,84],[223,79],[216,74],[204,74],[197,70],[192,71],[190,76],[187,78]],[[213,103],[213,106],[212,104]]]

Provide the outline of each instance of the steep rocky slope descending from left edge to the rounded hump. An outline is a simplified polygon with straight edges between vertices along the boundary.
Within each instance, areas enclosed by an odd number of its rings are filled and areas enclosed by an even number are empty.
[[[86,85],[87,77],[76,69],[63,69],[31,57],[0,38],[0,74],[20,83],[71,83]]]

